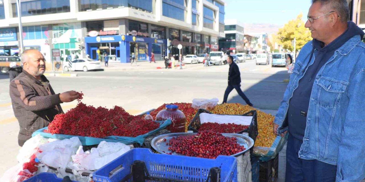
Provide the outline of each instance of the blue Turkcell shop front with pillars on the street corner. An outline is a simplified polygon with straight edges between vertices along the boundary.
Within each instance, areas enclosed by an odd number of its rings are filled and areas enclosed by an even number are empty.
[[[85,48],[86,54],[90,55],[92,59],[94,55],[97,57],[97,47],[95,43],[111,43],[119,42],[119,47],[115,49],[118,50],[116,53],[117,57],[120,58],[121,63],[130,63],[130,45],[131,43],[145,43],[145,47],[139,47],[138,54],[139,60],[147,60],[147,55],[151,56],[151,51],[153,44],[167,44],[166,39],[154,39],[149,37],[138,37],[130,35],[111,35],[111,36],[96,36],[96,37],[85,37]],[[167,46],[165,46],[167,47]]]

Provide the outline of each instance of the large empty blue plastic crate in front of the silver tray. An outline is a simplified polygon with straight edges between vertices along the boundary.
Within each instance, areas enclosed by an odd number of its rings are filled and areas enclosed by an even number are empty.
[[[237,182],[237,159],[220,155],[216,159],[153,154],[150,149],[136,148],[93,173],[95,182],[132,182],[128,177],[134,161],[145,162],[151,177],[205,182],[212,167],[220,168],[221,182]]]

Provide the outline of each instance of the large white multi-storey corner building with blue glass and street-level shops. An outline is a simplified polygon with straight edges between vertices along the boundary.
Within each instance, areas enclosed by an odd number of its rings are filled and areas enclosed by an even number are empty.
[[[218,51],[224,37],[223,0],[21,0],[24,49],[47,60],[74,55],[121,63],[131,54],[156,60]],[[168,47],[168,45],[171,45]],[[19,52],[16,0],[0,0],[0,53]]]

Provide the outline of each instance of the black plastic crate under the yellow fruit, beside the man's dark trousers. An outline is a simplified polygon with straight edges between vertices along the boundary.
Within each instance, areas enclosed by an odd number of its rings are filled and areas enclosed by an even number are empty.
[[[278,178],[279,155],[268,162],[260,162],[259,181],[276,182]]]

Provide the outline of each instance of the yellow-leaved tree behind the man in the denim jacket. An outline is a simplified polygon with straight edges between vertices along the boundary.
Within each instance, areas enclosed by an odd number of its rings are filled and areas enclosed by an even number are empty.
[[[293,51],[294,47],[292,41],[296,39],[295,51],[300,50],[308,41],[312,40],[311,32],[308,28],[304,27],[305,23],[301,18],[303,13],[300,13],[296,19],[290,20],[284,25],[283,28],[279,29],[277,33],[279,44],[284,49]]]

